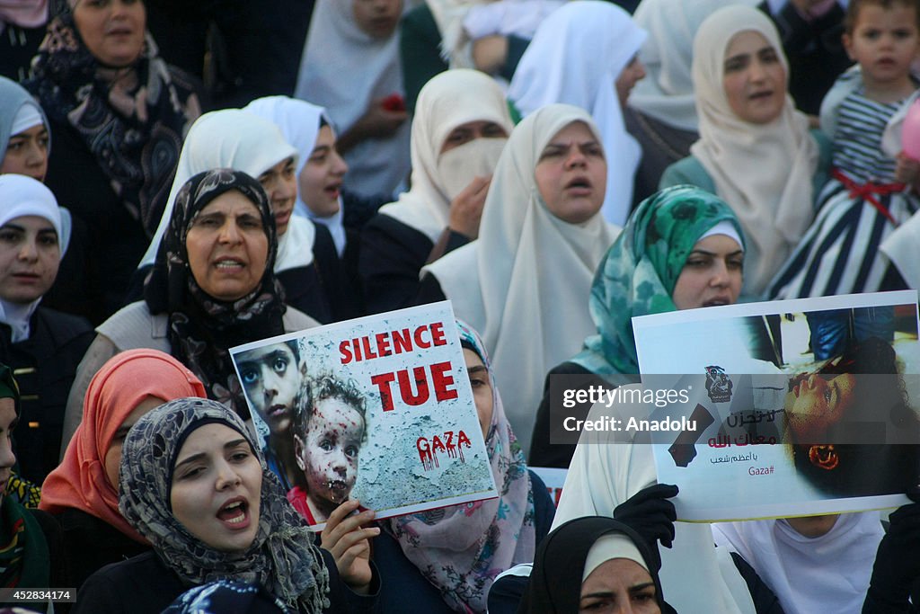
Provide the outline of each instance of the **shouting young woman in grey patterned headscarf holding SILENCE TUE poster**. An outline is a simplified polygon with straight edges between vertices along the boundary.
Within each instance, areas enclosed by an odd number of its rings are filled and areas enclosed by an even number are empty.
[[[293,612],[370,611],[379,579],[361,528],[373,516],[330,518],[323,550],[284,498],[247,426],[213,400],[180,399],[129,432],[119,508],[152,552],[90,576],[80,612],[158,614],[192,586],[264,586]],[[332,525],[332,527],[329,527]]]

